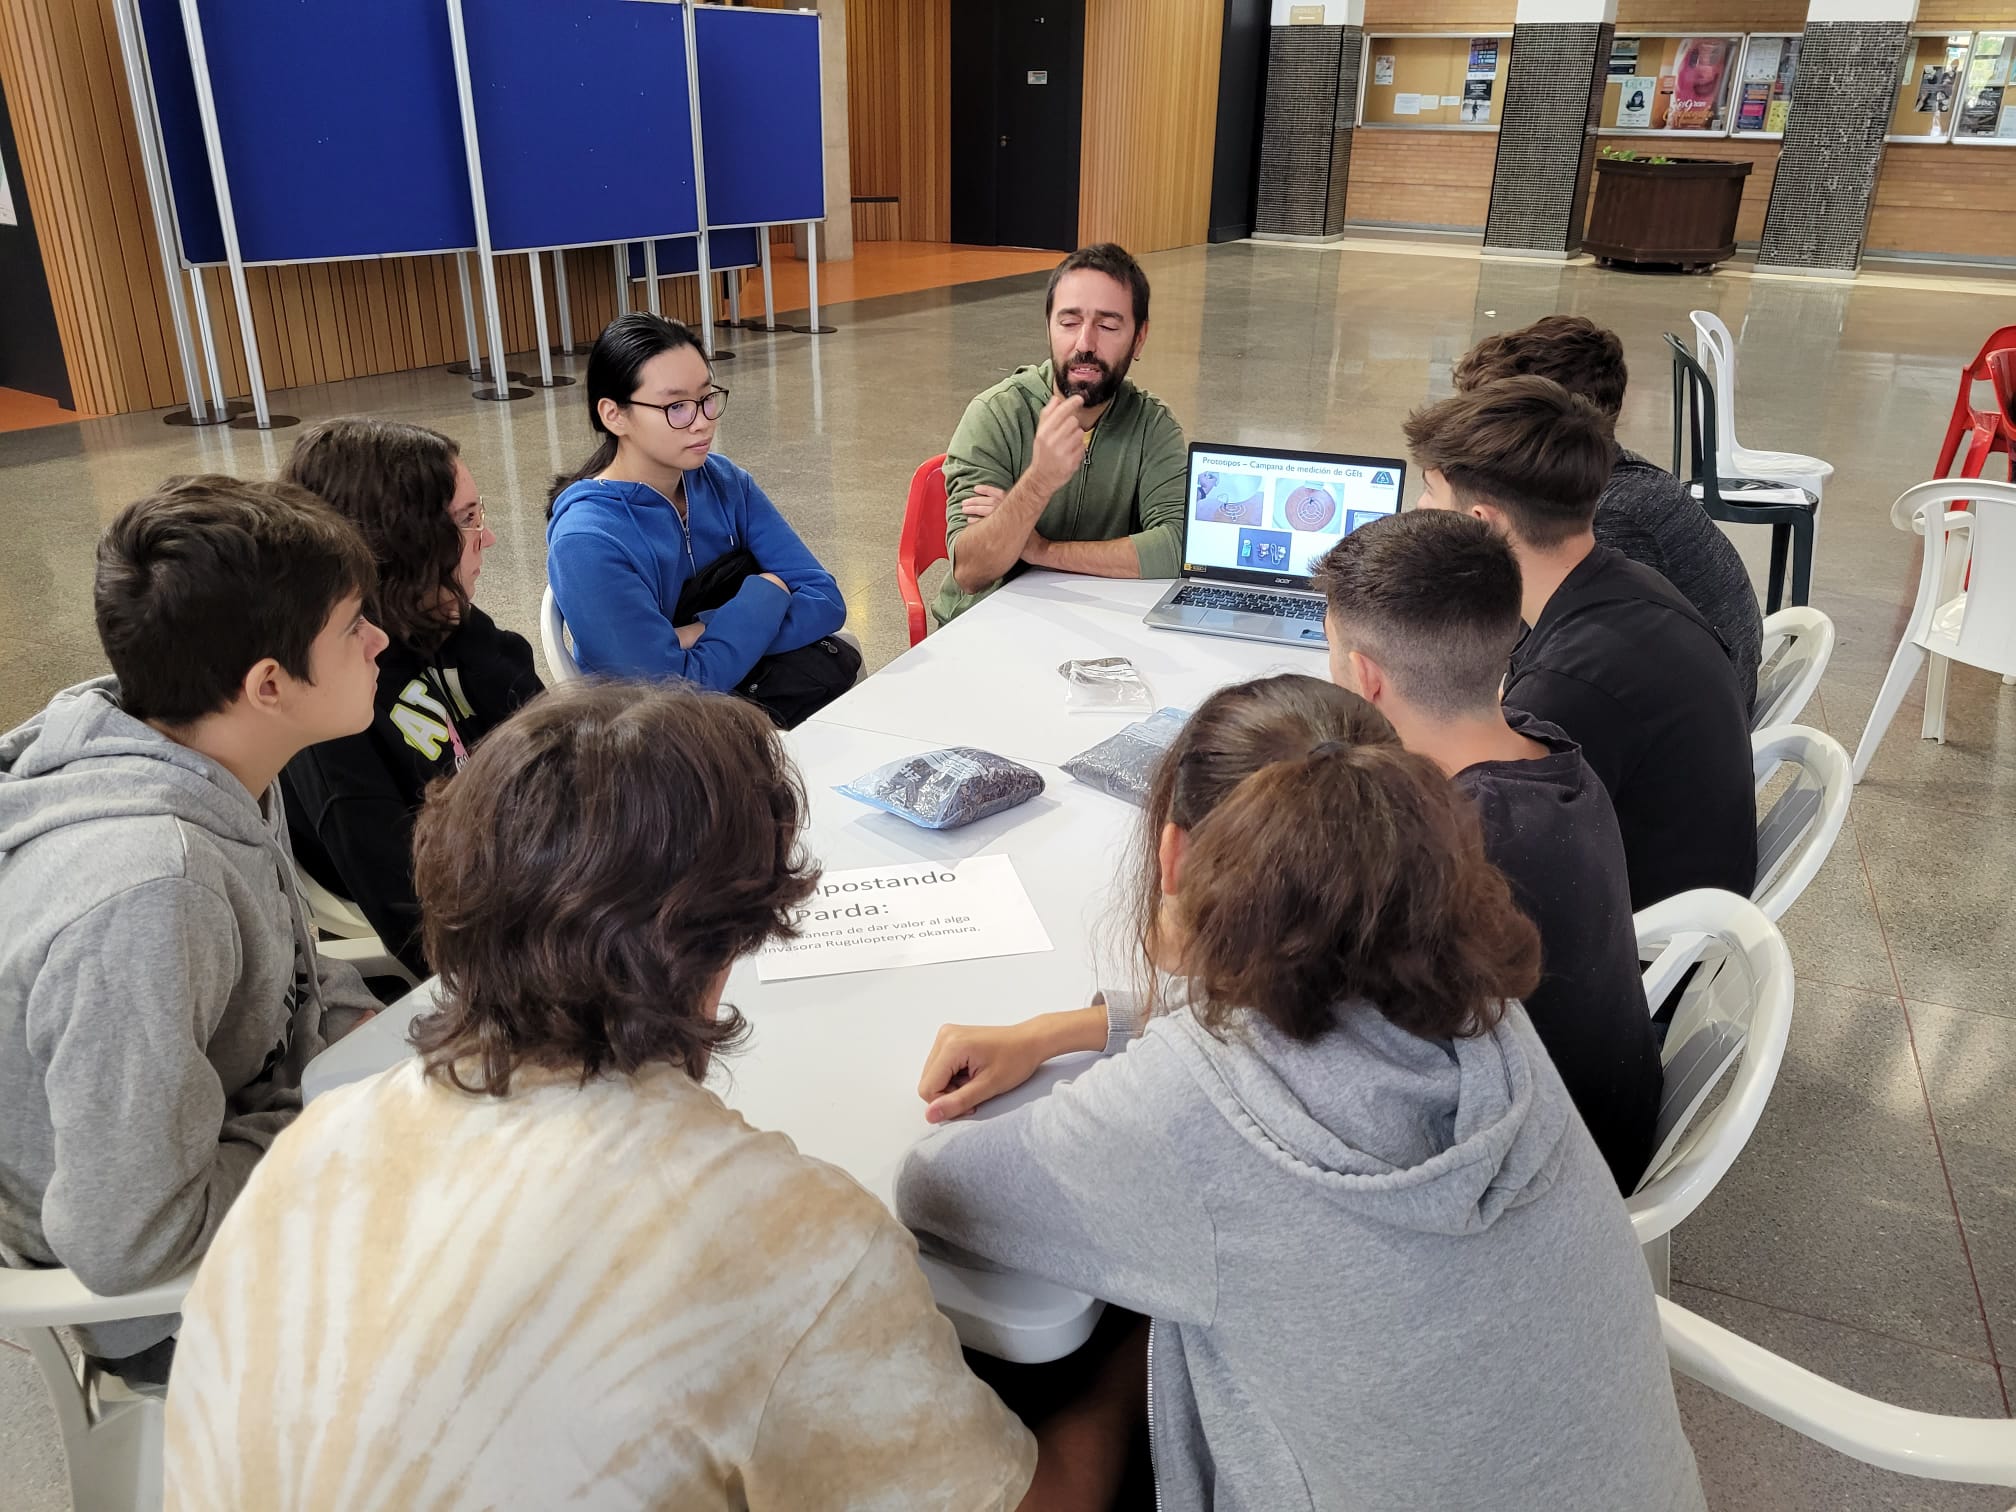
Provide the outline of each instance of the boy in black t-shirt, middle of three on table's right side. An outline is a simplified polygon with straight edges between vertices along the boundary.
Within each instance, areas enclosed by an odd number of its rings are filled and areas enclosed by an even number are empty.
[[[1631,907],[1691,887],[1756,883],[1750,708],[1730,659],[1679,591],[1597,544],[1615,460],[1611,421],[1552,379],[1506,377],[1407,417],[1421,508],[1498,530],[1518,558],[1506,710],[1560,726],[1617,808]]]

